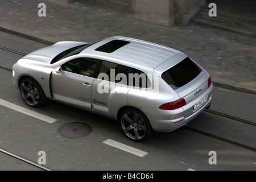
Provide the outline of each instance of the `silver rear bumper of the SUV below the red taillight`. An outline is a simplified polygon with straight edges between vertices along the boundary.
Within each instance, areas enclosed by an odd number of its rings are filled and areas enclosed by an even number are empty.
[[[179,127],[187,125],[192,119],[197,117],[205,108],[207,108],[212,101],[213,85],[205,90],[204,96],[206,101],[203,105],[193,110],[193,102],[189,102],[184,107],[176,110],[160,110],[148,107],[142,107],[142,111],[150,120],[152,129],[160,133],[170,133]],[[189,114],[187,114],[189,113]]]

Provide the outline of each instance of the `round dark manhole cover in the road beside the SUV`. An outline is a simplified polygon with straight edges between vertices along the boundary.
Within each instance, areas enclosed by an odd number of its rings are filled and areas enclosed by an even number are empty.
[[[91,127],[86,123],[73,122],[67,123],[59,128],[59,133],[67,138],[80,138],[88,135]]]

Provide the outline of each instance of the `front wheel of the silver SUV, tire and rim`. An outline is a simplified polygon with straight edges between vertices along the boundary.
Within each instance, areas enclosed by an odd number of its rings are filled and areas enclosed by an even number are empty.
[[[46,104],[47,98],[42,87],[31,77],[25,77],[20,81],[19,91],[23,100],[31,107]]]

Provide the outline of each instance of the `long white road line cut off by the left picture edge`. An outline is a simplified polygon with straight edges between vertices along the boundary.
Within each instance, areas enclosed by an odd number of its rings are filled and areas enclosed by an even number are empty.
[[[26,109],[26,108],[18,106],[18,105],[15,105],[11,102],[7,102],[5,100],[2,100],[1,98],[0,98],[0,105],[5,106],[5,107],[9,107],[10,109],[19,111],[20,113],[23,113],[23,114],[30,115],[31,117],[38,118],[38,119],[46,121],[48,123],[53,123],[53,122],[57,121],[57,119],[48,117],[47,115],[36,113],[35,111]]]

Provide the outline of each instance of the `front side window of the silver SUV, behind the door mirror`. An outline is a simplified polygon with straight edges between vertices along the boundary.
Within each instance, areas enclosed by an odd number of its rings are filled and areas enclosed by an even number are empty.
[[[93,77],[98,60],[92,58],[77,58],[63,64],[62,69],[67,72]]]

